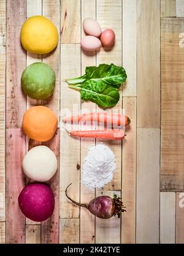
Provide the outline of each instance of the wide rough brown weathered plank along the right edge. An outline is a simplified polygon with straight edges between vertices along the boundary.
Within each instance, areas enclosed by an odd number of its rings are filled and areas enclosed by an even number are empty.
[[[161,20],[161,191],[183,191],[183,18]]]

